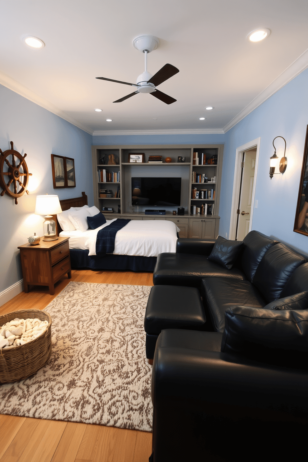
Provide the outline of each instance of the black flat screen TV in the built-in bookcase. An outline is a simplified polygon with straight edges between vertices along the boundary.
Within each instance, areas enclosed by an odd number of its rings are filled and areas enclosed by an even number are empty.
[[[181,205],[181,178],[132,177],[132,205]]]

